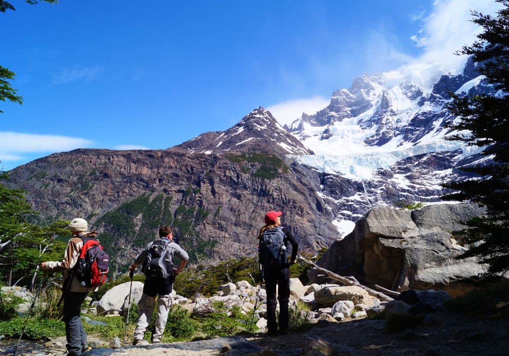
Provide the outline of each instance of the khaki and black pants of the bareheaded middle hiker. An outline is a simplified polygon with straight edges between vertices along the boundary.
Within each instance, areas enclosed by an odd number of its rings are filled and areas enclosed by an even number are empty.
[[[136,322],[136,330],[134,331],[134,340],[143,340],[145,332],[149,327],[152,313],[154,312],[155,296],[142,294],[142,299],[138,302],[139,312],[138,321]],[[166,320],[168,318],[169,308],[172,307],[172,295],[159,295],[157,299],[157,318],[155,322],[155,332],[152,334],[152,342],[161,341]]]

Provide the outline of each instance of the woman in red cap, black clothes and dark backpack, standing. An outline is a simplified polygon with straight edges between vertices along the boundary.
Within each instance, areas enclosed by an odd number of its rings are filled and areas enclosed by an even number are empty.
[[[292,232],[281,226],[281,212],[270,211],[265,215],[265,226],[258,234],[258,251],[262,268],[262,278],[267,290],[267,335],[277,336],[276,284],[279,300],[279,333],[290,331],[288,324],[288,302],[290,300],[290,264],[297,258],[298,243]],[[287,245],[292,244],[292,257],[287,259]]]

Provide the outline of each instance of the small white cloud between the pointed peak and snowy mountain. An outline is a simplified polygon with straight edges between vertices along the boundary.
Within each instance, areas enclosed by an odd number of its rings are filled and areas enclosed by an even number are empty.
[[[282,125],[290,125],[297,118],[302,116],[302,113],[314,114],[328,106],[330,99],[323,97],[313,97],[310,99],[291,99],[279,104],[267,107],[272,115],[276,118],[277,122]]]

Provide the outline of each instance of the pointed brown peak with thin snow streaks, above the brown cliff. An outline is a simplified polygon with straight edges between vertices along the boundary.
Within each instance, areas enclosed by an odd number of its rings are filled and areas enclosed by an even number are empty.
[[[263,107],[254,109],[226,131],[206,132],[169,150],[205,154],[257,150],[282,155],[314,155]]]

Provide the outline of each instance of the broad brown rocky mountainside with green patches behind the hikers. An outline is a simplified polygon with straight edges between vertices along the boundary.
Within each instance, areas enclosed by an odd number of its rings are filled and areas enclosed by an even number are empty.
[[[268,111],[257,109],[243,125],[259,126],[255,119],[267,117]],[[182,148],[80,149],[19,166],[6,183],[29,192],[41,220],[86,218],[99,231],[113,273],[126,271],[162,225],[174,228],[174,239],[195,262],[252,256],[270,210],[284,212],[283,222],[293,230],[299,248],[329,246],[338,233],[316,193],[319,178],[314,170],[279,154],[282,148],[270,135],[280,129],[271,130],[271,125],[239,133],[269,135],[239,145],[243,151],[215,155],[184,153]],[[292,147],[304,147],[286,135]]]

